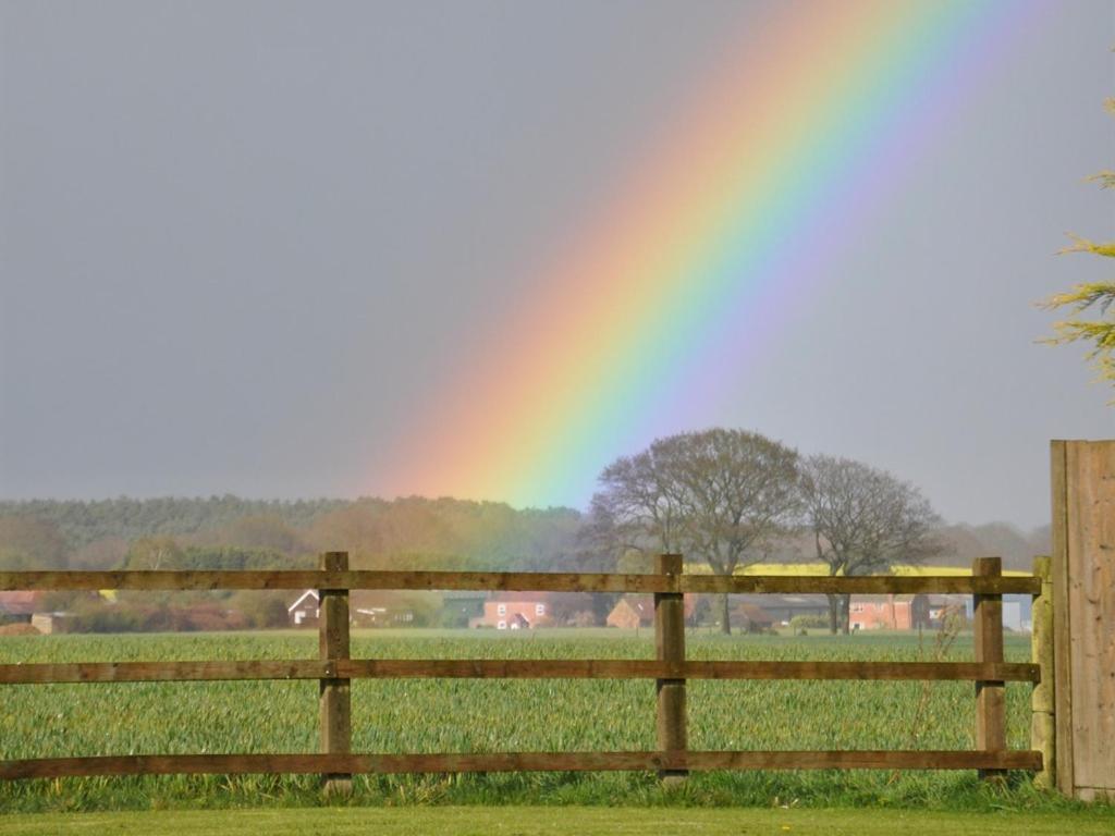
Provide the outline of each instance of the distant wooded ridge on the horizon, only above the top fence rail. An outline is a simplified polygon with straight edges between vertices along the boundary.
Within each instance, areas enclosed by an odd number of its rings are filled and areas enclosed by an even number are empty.
[[[450,498],[0,502],[0,568],[309,567],[317,553],[338,550],[360,568],[615,570],[623,556],[586,536],[590,528],[572,508]],[[999,555],[1008,568],[1028,568],[1049,550],[1047,526],[948,525],[938,534],[946,548],[931,565]],[[752,562],[812,554],[809,536],[787,534]]]

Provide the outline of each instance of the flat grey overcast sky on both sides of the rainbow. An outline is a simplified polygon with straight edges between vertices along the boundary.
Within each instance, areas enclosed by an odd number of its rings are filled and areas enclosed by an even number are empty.
[[[429,381],[768,7],[0,1],[0,497],[389,493]],[[1049,439],[1115,429],[1032,308],[1112,273],[1054,253],[1115,234],[1115,2],[1043,9],[704,425],[1047,522]]]

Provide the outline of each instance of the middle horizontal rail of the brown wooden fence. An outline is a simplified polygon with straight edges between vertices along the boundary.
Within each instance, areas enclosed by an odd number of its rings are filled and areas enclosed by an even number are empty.
[[[999,680],[1037,682],[1030,663],[792,662],[653,659],[351,659],[0,664],[0,684],[298,679]]]

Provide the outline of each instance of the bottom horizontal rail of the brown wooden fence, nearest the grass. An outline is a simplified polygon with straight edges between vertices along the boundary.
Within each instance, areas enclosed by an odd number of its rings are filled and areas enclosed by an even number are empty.
[[[1039,769],[1036,751],[125,755],[0,760],[0,779],[181,774],[518,772],[712,769]]]

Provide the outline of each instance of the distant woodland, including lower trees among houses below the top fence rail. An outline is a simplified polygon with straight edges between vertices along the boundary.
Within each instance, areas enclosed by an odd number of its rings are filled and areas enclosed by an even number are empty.
[[[1008,567],[1026,567],[1048,550],[1048,531],[1024,534],[1001,524],[949,526],[937,534],[944,553],[929,563],[998,554]],[[516,511],[448,498],[6,502],[0,570],[311,568],[319,552],[334,550],[349,552],[353,568],[651,570],[649,554],[617,548],[598,535],[599,521],[571,508]],[[808,562],[814,555],[811,534],[786,532],[745,563]],[[374,597],[376,605],[409,613],[415,625],[467,623],[467,612],[444,605],[437,593]],[[602,623],[615,596],[580,597],[585,600],[566,603]],[[54,592],[41,607],[65,612],[66,629],[78,632],[240,630],[289,625],[291,599],[289,592],[119,592],[107,599]]]

